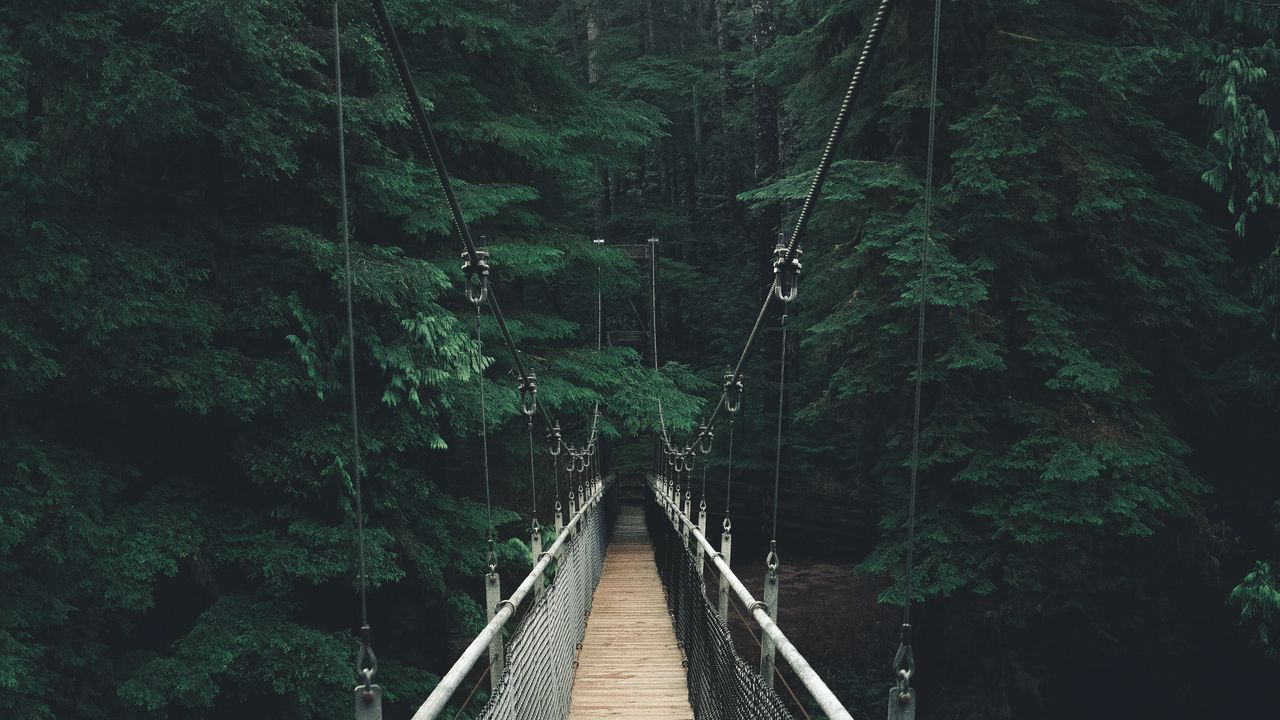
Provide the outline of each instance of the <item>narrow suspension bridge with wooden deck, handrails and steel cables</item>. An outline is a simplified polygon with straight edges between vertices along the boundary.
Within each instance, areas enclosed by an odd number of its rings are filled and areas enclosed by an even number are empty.
[[[780,587],[777,556],[778,478],[782,471],[783,407],[786,391],[786,307],[797,293],[800,277],[800,240],[817,202],[823,182],[835,158],[836,147],[849,123],[852,102],[858,96],[868,61],[884,26],[890,0],[881,0],[868,24],[861,54],[845,92],[840,110],[813,183],[799,210],[790,237],[782,236],[773,256],[773,281],[765,292],[759,314],[744,343],[736,365],[724,377],[722,392],[709,418],[696,434],[680,442],[668,429],[663,407],[657,402],[659,451],[652,473],[620,479],[604,473],[600,459],[599,416],[596,405],[591,414],[585,442],[568,443],[561,425],[538,402],[538,379],[525,365],[508,331],[495,290],[490,283],[488,254],[472,240],[467,223],[454,197],[449,173],[435,141],[413,78],[381,0],[371,0],[374,15],[390,53],[396,74],[404,92],[406,106],[421,145],[431,158],[452,218],[453,232],[465,249],[463,272],[466,296],[476,310],[477,368],[483,338],[480,319],[488,307],[509,351],[518,375],[521,411],[527,419],[530,492],[535,500],[534,419],[540,416],[547,427],[549,452],[557,459],[557,497],[550,544],[543,547],[545,534],[535,518],[529,528],[530,562],[532,569],[509,594],[503,594],[494,555],[493,523],[489,521],[489,571],[485,575],[488,624],[470,642],[430,696],[420,705],[412,720],[456,717],[475,697],[488,679],[488,700],[477,717],[494,720],[572,720],[646,719],[646,720],[783,720],[794,719],[792,710],[810,717],[809,708],[832,720],[851,719],[818,671],[805,660],[777,624]],[[346,149],[343,145],[342,65],[338,44],[338,4],[334,14],[334,70],[338,108],[338,152],[340,177],[340,234],[348,247]],[[929,211],[933,184],[933,136],[937,105],[937,47],[940,4],[934,4],[933,65],[929,99],[929,154],[925,178],[924,238],[922,243],[922,283],[928,278]],[[596,241],[599,242],[599,241]],[[650,240],[645,258],[650,261],[650,293],[654,322],[648,338],[652,341],[654,368],[658,366],[657,346],[657,240]],[[923,292],[920,293],[923,297]],[[355,337],[351,322],[351,255],[346,250],[346,301],[348,314],[347,340],[351,352],[351,391],[355,398]],[[727,509],[718,533],[708,529],[705,492],[707,455],[712,451],[714,427],[722,413],[728,428],[728,488],[732,488],[732,451],[735,414],[741,406],[744,364],[759,337],[771,306],[781,305],[782,357],[780,363],[778,434],[774,462],[773,541],[765,559],[767,573],[760,594],[753,592],[735,574],[732,560],[732,524]],[[596,288],[596,345],[602,343],[600,293]],[[915,479],[920,418],[920,364],[923,363],[924,305],[919,305],[916,343],[915,414],[911,461],[911,493],[908,514],[908,561],[902,635],[892,661],[895,682],[888,692],[890,720],[914,720],[916,692],[910,682],[915,673],[911,651],[910,597],[914,538]],[[485,413],[485,380],[477,382],[480,436],[484,441],[485,503],[490,506],[488,429]],[[358,573],[361,610],[361,650],[357,660],[358,684],[355,687],[357,720],[380,720],[383,691],[374,682],[378,661],[372,651],[367,611],[367,582],[364,551],[364,506],[360,479],[360,430],[355,400],[351,406],[351,464],[356,491],[356,524],[358,534]],[[559,491],[559,457],[564,457],[568,474],[567,492]],[[694,505],[694,468],[701,462],[703,487]],[[567,505],[562,501],[567,500]],[[492,518],[492,510],[490,510]],[[718,538],[714,537],[718,534]],[[744,657],[730,635],[730,610],[758,630],[758,657]],[[520,618],[517,619],[517,614]],[[786,666],[795,684],[781,673]],[[781,684],[782,692],[778,685]],[[783,697],[786,696],[786,697]],[[804,696],[805,700],[801,700]],[[817,716],[817,715],[814,715]]]

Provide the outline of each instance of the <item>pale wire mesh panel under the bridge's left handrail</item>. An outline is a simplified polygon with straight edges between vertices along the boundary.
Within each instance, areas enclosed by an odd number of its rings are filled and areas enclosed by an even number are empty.
[[[607,493],[608,498],[608,493]],[[573,661],[586,630],[608,544],[608,500],[589,510],[559,556],[548,585],[507,643],[502,684],[480,711],[485,720],[563,720]]]

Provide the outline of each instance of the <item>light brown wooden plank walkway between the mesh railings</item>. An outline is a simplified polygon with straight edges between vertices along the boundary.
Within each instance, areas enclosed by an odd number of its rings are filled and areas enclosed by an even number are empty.
[[[644,510],[623,505],[573,676],[570,720],[692,720]]]

